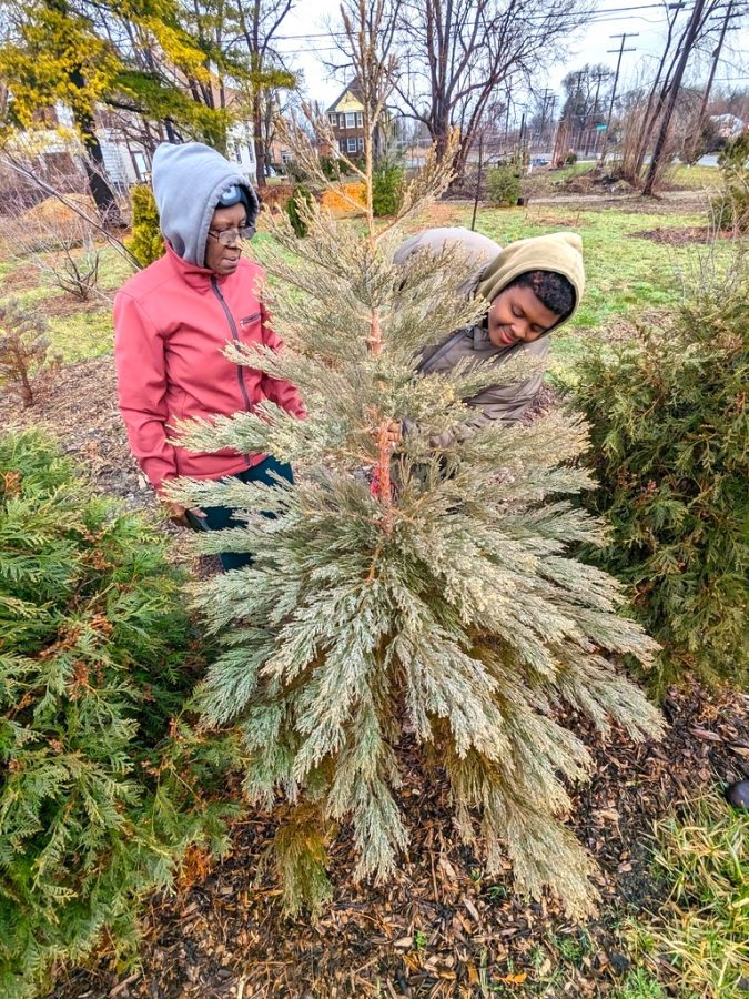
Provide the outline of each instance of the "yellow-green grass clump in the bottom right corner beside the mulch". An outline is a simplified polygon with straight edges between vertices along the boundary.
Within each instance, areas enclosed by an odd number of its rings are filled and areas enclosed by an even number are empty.
[[[749,815],[717,795],[657,824],[656,870],[671,891],[649,921],[628,929],[660,975],[675,968],[680,996],[739,999],[749,968]]]

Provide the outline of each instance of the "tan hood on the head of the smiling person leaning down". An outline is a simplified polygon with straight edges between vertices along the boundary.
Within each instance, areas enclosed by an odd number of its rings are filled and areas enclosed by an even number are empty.
[[[476,294],[493,302],[503,289],[527,271],[554,271],[556,274],[564,274],[575,289],[575,306],[570,314],[554,327],[558,330],[563,322],[566,323],[575,314],[585,291],[583,240],[576,232],[554,232],[550,235],[533,236],[529,240],[510,243],[484,269]]]

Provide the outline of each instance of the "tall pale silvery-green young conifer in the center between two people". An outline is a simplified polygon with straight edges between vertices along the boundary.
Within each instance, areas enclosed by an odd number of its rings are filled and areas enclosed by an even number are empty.
[[[240,731],[251,803],[287,803],[276,838],[287,908],[327,897],[325,848],[342,825],[356,876],[393,872],[408,841],[397,789],[413,736],[439,759],[459,835],[488,868],[508,857],[523,890],[548,887],[580,916],[596,868],[560,816],[565,781],[584,777],[590,758],[557,709],[571,705],[604,734],[615,722],[632,738],[657,735],[658,713],[611,662],[647,663],[654,643],[618,614],[617,583],[567,553],[601,538],[560,495],[591,485],[576,464],[577,421],[553,413],[431,443],[469,415],[462,398],[496,379],[487,367],[414,371],[415,352],[486,307],[455,292],[473,263],[447,250],[393,264],[401,226],[444,190],[456,139],[375,226],[368,109],[385,101],[364,53],[355,69],[368,137],[364,231],[316,203],[303,241],[284,215],[272,219],[274,240],[255,252],[275,279],[264,297],[286,350],[227,350],[298,385],[310,415],[263,403],[180,428],[186,446],[271,453],[296,471],[295,485],[276,488],[229,480],[174,490],[190,506],[246,517],[201,535],[201,551],[255,555],[194,588],[224,644],[202,686],[203,722]],[[324,184],[310,140],[297,130],[291,141]],[[413,431],[392,451],[392,424],[405,420]]]

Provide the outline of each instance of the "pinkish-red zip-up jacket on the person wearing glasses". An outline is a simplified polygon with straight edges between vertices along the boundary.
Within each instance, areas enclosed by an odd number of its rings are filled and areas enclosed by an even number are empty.
[[[156,491],[178,475],[221,478],[266,457],[175,447],[168,438],[176,420],[251,412],[264,400],[304,415],[293,385],[222,353],[232,340],[282,346],[257,300],[263,276],[244,259],[233,274],[219,276],[188,263],[168,243],[166,255],[131,278],[114,300],[120,412],[132,453]]]

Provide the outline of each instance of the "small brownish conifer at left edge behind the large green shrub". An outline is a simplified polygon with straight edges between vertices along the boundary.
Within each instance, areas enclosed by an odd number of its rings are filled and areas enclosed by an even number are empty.
[[[18,393],[24,408],[33,405],[39,375],[58,363],[45,333],[44,319],[17,299],[0,304],[0,389]]]

